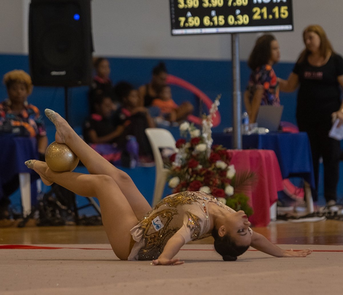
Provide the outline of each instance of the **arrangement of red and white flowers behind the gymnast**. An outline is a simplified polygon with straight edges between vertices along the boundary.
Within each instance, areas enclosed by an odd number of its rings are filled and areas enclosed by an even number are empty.
[[[219,106],[220,96],[214,101],[209,115],[203,116],[202,131],[184,122],[180,125],[178,151],[169,157],[169,187],[173,193],[185,190],[202,191],[217,197],[234,210],[253,211],[248,205],[245,188],[251,186],[254,174],[237,172],[230,164],[230,151],[221,145],[212,145],[212,116]]]

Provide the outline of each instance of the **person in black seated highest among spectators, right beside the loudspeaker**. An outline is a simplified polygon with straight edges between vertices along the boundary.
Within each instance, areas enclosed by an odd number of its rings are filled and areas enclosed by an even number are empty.
[[[98,57],[94,58],[93,66],[95,69],[95,76],[89,91],[89,105],[90,112],[94,113],[94,102],[99,95],[108,96],[116,103],[114,95],[113,84],[109,77],[111,73],[109,61],[106,58]],[[113,105],[114,107],[116,104]]]

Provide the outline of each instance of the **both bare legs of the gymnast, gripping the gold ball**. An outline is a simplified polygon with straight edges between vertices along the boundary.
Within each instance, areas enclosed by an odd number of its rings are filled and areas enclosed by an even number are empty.
[[[47,185],[55,182],[75,194],[97,197],[111,247],[118,258],[127,259],[131,243],[130,229],[151,209],[149,203],[125,172],[115,168],[88,146],[61,116],[49,113],[49,110],[47,112],[56,126],[56,141],[67,144],[91,174],[54,172],[41,161],[31,161],[27,163],[28,166]]]

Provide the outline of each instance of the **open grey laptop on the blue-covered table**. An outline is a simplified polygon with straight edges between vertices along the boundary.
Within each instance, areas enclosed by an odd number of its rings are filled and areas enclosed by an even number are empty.
[[[283,106],[260,106],[256,123],[258,127],[268,128],[274,132],[279,130]]]

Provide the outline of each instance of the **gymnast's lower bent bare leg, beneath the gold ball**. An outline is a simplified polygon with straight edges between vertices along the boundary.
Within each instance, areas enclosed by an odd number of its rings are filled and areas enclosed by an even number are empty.
[[[115,180],[102,174],[54,172],[45,162],[30,160],[26,164],[45,181],[55,182],[75,194],[96,197],[101,207],[102,221],[114,253],[126,260],[130,254],[130,230],[138,219]]]

